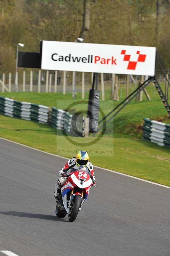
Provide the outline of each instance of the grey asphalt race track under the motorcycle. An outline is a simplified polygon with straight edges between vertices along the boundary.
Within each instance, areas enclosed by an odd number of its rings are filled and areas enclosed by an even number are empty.
[[[54,184],[65,162],[0,139],[0,251],[170,255],[170,189],[96,169],[97,188],[71,223],[54,213]]]

